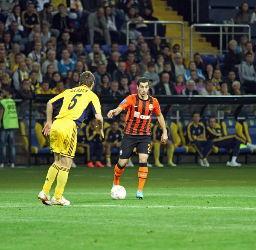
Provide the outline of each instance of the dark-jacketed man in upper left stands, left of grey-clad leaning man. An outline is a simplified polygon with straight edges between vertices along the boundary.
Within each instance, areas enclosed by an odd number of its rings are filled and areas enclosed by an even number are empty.
[[[70,26],[70,18],[65,14],[64,4],[58,5],[58,13],[53,16],[52,28],[58,29],[59,32],[74,32]]]

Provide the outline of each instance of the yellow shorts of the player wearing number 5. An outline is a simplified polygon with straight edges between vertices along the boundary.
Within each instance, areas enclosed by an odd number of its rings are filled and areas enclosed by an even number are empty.
[[[74,158],[76,152],[76,123],[70,119],[56,119],[50,132],[51,151]]]

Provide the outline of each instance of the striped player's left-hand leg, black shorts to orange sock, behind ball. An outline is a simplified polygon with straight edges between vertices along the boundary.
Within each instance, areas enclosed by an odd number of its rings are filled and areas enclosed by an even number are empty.
[[[119,160],[115,166],[113,186],[119,185],[119,178],[125,170],[125,165],[131,157],[137,142],[134,136],[124,135],[119,150]]]

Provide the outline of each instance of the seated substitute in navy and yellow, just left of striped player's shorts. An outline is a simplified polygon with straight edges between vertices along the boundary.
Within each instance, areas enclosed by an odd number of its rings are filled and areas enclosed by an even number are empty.
[[[120,148],[123,131],[119,128],[119,122],[113,120],[110,128],[105,130],[105,157],[107,167],[111,167],[111,148]]]

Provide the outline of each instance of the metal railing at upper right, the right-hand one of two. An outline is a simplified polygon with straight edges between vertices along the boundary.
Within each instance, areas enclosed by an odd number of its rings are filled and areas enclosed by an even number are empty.
[[[197,32],[194,31],[194,28],[207,28],[207,29],[212,29],[213,27],[217,27],[219,28],[218,32],[211,32],[211,31],[207,31],[207,32]],[[235,28],[248,28],[248,32],[235,32]],[[223,28],[225,28],[225,30],[223,31]],[[229,32],[228,28],[232,28],[232,31]],[[219,48],[217,50],[202,50],[202,49],[198,49],[195,50],[193,49],[193,35],[219,35]],[[234,39],[235,35],[248,35],[249,41],[251,38],[251,27],[249,24],[213,24],[213,23],[195,23],[192,24],[190,26],[190,59],[193,60],[193,55],[196,52],[217,52],[222,54],[223,52],[228,52],[228,40],[226,39],[226,49],[223,49],[223,35],[232,35],[232,39]],[[230,39],[231,40],[231,39]]]

